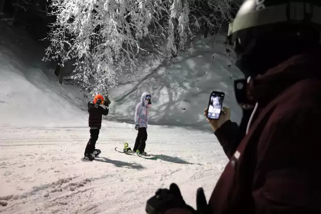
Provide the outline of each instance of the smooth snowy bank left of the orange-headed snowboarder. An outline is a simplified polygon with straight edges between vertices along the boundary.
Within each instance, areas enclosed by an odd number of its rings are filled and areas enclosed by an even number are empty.
[[[41,61],[37,43],[24,32],[3,28],[0,35],[0,125],[31,126],[85,119],[84,95],[60,85],[53,69]]]

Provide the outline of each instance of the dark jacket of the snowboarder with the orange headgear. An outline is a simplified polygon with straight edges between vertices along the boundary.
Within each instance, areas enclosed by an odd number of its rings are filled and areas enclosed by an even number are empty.
[[[108,115],[108,112],[108,106],[107,108],[103,108],[101,105],[95,105],[93,102],[88,102],[89,127],[100,129],[102,115]]]

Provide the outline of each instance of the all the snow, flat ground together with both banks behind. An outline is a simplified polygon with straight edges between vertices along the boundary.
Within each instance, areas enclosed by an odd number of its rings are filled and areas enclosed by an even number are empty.
[[[239,74],[229,71],[223,52],[213,54],[203,39],[198,52],[120,85],[96,144],[100,158],[83,162],[88,99],[75,86],[60,85],[40,61],[41,48],[22,34],[0,35],[1,213],[145,213],[146,200],[172,182],[194,207],[198,187],[209,198],[227,162],[215,136],[202,131],[210,92],[226,92],[224,103],[235,120],[240,116],[232,93]],[[124,122],[132,123],[144,90],[154,94],[151,124],[171,125],[148,127],[146,151],[154,160],[114,151],[124,142],[133,147],[136,131]]]

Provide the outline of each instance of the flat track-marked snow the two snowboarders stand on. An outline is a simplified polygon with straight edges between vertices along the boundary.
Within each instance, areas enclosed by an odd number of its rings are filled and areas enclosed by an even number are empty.
[[[157,188],[176,182],[195,207],[202,186],[209,198],[227,158],[212,134],[150,126],[147,160],[114,151],[136,131],[105,122],[92,162],[82,161],[88,128],[0,130],[1,213],[145,213]]]

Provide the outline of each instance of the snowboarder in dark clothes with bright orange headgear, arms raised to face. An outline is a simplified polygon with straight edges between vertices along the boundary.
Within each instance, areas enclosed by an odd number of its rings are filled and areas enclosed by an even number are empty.
[[[102,115],[108,115],[109,103],[110,101],[106,101],[104,96],[100,94],[95,95],[92,102],[88,102],[90,139],[85,149],[85,160],[92,161],[97,154],[95,145],[98,140],[99,130],[101,129]]]

